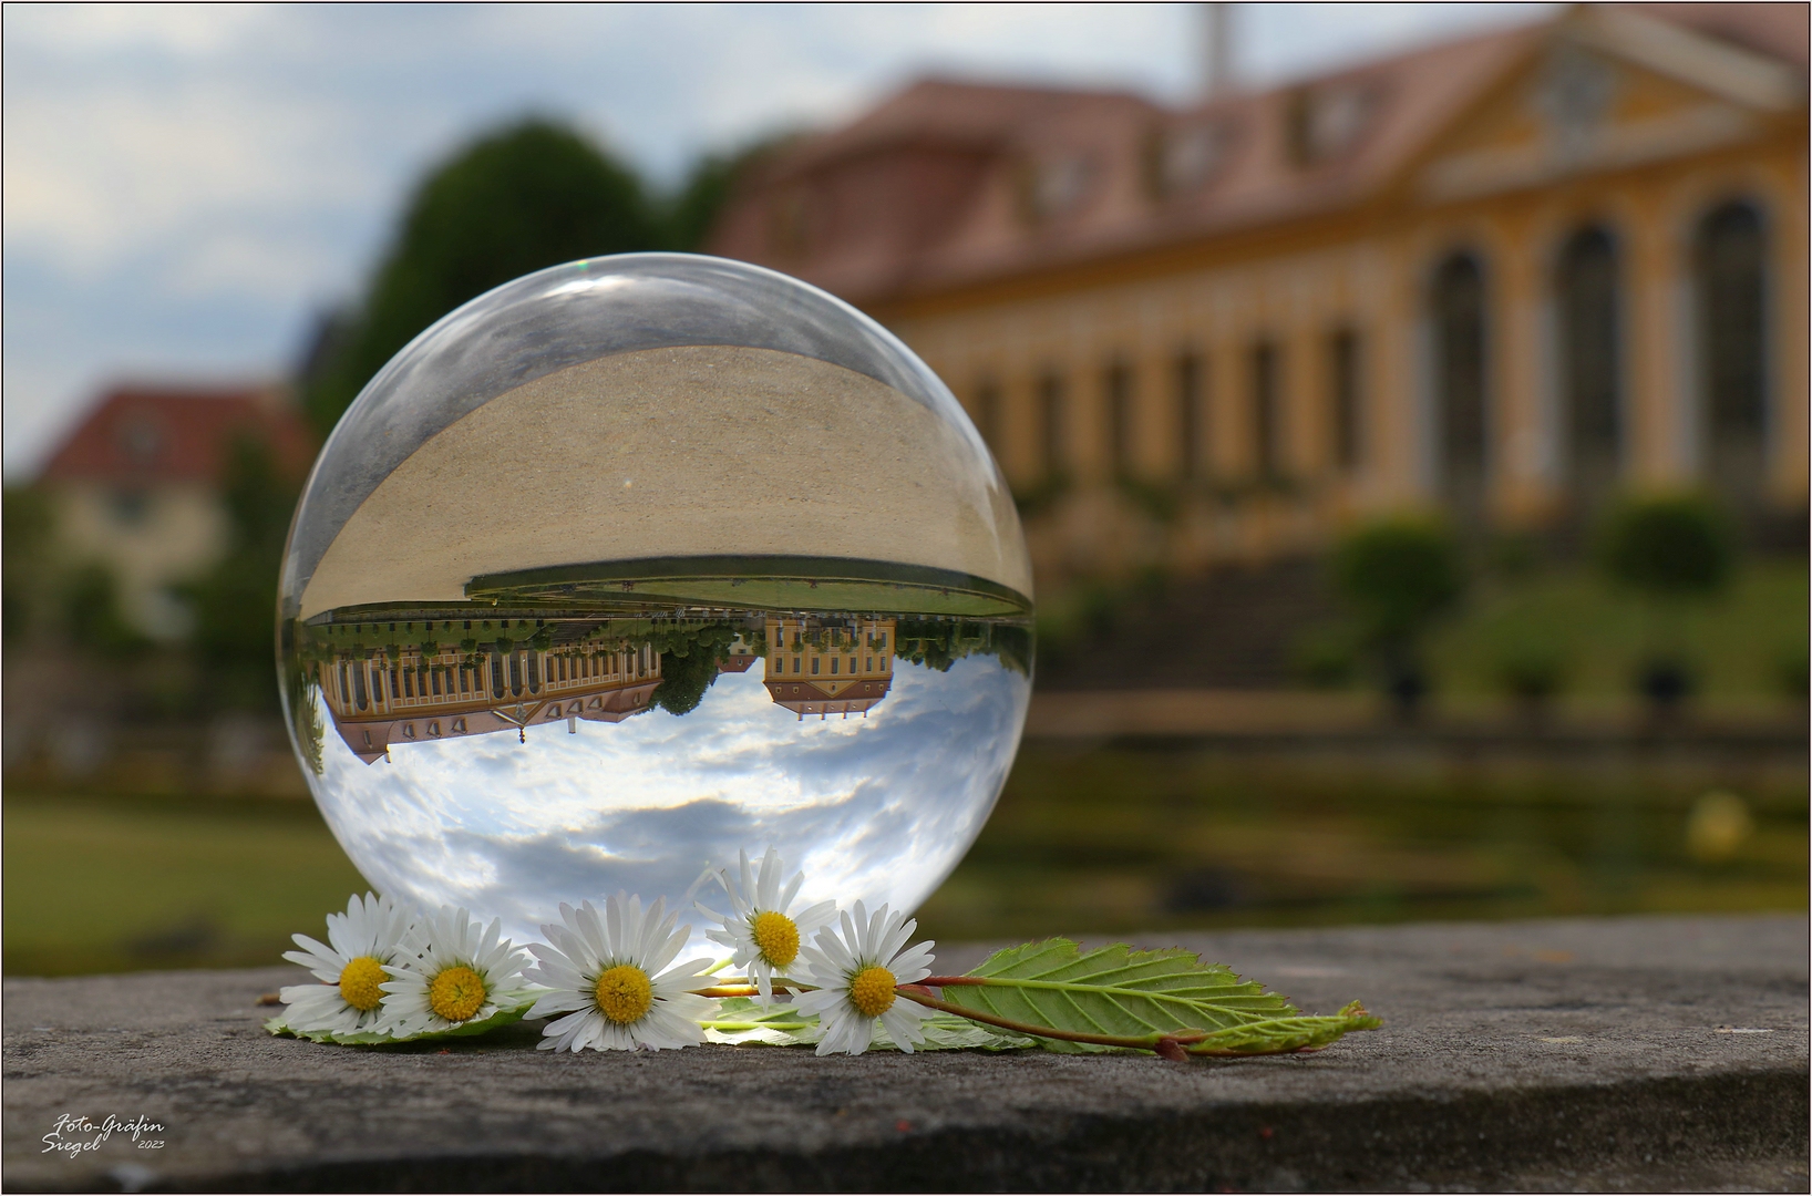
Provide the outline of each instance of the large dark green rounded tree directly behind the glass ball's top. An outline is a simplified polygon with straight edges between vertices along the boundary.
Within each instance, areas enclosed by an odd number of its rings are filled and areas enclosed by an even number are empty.
[[[417,188],[364,304],[303,379],[308,413],[328,431],[397,350],[493,286],[665,241],[636,174],[571,129],[527,120],[484,136]]]

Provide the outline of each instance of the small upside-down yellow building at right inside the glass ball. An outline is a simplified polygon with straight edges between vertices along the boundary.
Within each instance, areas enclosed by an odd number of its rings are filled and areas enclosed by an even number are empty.
[[[893,622],[766,618],[768,696],[801,719],[866,716],[893,685]]]

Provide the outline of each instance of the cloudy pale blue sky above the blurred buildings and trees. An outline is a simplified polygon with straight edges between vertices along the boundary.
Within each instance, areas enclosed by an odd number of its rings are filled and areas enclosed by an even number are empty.
[[[116,379],[270,377],[424,167],[524,112],[658,183],[922,72],[1185,98],[1200,5],[4,9],[9,471]],[[1234,5],[1252,82],[1553,5]]]

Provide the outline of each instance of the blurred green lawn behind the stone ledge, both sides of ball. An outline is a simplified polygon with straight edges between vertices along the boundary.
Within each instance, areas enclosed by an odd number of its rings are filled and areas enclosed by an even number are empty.
[[[1709,790],[1754,832],[1694,859]],[[310,803],[9,796],[5,971],[272,964],[364,883]],[[1805,910],[1792,761],[1557,765],[1027,745],[933,939]]]

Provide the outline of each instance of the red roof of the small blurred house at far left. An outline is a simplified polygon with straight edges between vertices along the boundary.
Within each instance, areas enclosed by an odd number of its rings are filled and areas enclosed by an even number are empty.
[[[43,468],[47,480],[217,480],[234,437],[263,439],[284,473],[301,475],[319,442],[281,391],[257,386],[141,388],[107,393]]]

